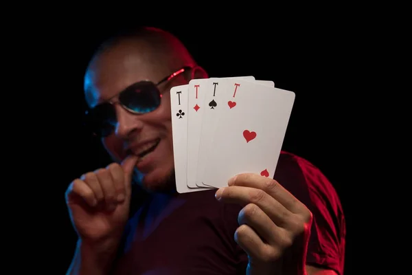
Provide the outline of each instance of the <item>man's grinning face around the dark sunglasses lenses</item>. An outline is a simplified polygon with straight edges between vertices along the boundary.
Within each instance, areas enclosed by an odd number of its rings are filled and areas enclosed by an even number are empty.
[[[126,87],[141,80],[153,83],[169,76],[176,69],[148,62],[143,52],[135,48],[117,46],[99,56],[90,66],[85,78],[86,100],[89,107],[111,100]],[[137,162],[137,169],[144,174],[142,184],[146,190],[167,190],[174,172],[172,124],[170,114],[170,88],[187,84],[183,74],[170,82],[159,85],[162,98],[160,106],[150,113],[130,113],[114,103],[117,124],[113,133],[102,138],[104,147],[117,162],[128,154],[147,153]],[[170,186],[166,186],[169,184]]]

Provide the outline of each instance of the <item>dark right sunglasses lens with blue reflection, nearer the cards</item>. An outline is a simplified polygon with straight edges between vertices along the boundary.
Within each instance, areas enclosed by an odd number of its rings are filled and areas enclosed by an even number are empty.
[[[154,111],[160,105],[160,92],[155,83],[142,81],[128,87],[119,95],[119,101],[136,113]]]

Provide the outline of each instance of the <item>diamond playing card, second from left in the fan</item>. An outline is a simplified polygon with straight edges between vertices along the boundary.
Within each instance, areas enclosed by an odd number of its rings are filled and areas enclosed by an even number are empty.
[[[236,79],[254,80],[253,76],[241,76]],[[201,129],[204,114],[216,105],[210,100],[209,94],[216,93],[216,85],[220,78],[201,78],[190,80],[188,89],[188,124],[187,124],[187,186],[198,188],[196,185],[196,170],[198,167],[198,152],[201,141]],[[216,102],[214,102],[216,104]],[[210,186],[201,186],[210,188]]]

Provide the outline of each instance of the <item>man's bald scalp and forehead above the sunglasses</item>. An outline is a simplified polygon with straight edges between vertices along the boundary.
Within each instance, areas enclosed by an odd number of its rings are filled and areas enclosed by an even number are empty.
[[[107,87],[106,80],[115,77],[131,83],[138,75],[156,82],[185,66],[196,62],[179,39],[157,28],[140,28],[102,43],[87,67],[84,90],[88,94],[95,85]]]

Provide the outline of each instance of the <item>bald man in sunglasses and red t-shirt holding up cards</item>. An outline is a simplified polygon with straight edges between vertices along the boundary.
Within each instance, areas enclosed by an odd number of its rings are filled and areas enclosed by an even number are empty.
[[[304,159],[282,152],[275,179],[242,174],[217,191],[176,194],[169,91],[207,77],[155,28],[95,53],[88,121],[114,162],[67,190],[79,236],[68,274],[343,274],[339,198]]]

